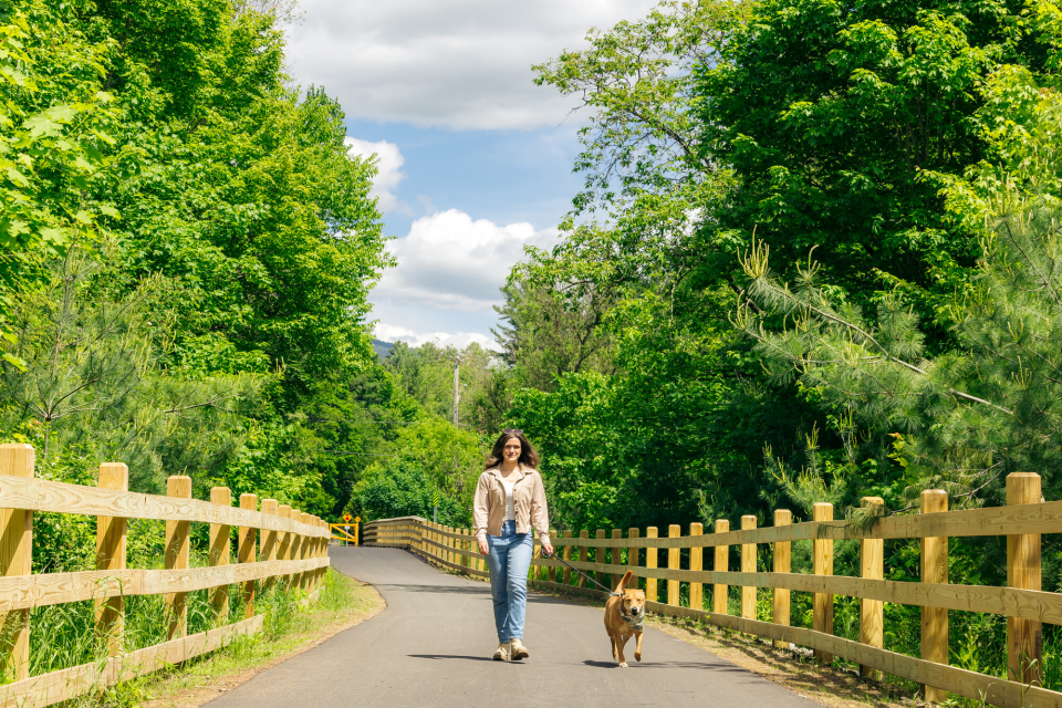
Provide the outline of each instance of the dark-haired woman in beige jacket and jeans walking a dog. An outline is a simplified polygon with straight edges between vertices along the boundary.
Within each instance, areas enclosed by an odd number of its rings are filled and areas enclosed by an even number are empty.
[[[509,428],[494,441],[487,470],[479,476],[476,488],[472,522],[479,552],[487,556],[490,571],[498,629],[496,662],[531,655],[522,642],[533,549],[531,527],[539,532],[542,550],[553,553],[545,489],[538,466],[539,456],[523,437],[523,430]]]

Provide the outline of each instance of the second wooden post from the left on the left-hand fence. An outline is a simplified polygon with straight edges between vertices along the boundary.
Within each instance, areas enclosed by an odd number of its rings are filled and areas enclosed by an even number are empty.
[[[129,468],[119,462],[100,466],[96,486],[102,489],[129,491]],[[124,571],[126,568],[125,542],[128,519],[124,517],[96,517],[96,570]],[[107,656],[122,654],[125,622],[125,589],[114,597],[96,601],[96,638],[105,644]]]

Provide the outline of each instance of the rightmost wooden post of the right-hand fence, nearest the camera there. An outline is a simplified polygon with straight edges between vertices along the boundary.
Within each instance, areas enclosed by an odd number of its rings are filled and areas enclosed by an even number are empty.
[[[1035,504],[1040,496],[1040,476],[1012,472],[1007,476],[1007,504]],[[1007,585],[1023,590],[1041,589],[1040,534],[1007,537]],[[1043,626],[1035,620],[1007,617],[1007,667],[1012,681],[1032,684],[1043,675]]]

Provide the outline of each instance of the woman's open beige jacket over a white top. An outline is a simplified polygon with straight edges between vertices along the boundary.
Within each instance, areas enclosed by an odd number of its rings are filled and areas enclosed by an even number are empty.
[[[517,513],[517,533],[527,533],[534,527],[539,540],[550,542],[550,510],[545,506],[545,488],[539,470],[520,466],[512,487],[512,508]],[[506,488],[501,472],[492,467],[479,476],[476,487],[476,503],[472,506],[472,524],[476,539],[486,541],[487,534],[501,535],[506,520]]]

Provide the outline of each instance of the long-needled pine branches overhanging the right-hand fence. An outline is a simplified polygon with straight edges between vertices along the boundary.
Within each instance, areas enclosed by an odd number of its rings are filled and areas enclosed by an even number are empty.
[[[1007,198],[986,261],[968,296],[950,306],[962,351],[928,356],[918,317],[889,296],[874,321],[851,302],[836,302],[820,284],[818,264],[800,271],[795,290],[780,284],[757,250],[745,261],[751,295],[787,315],[779,331],[742,309],[738,323],[758,342],[771,373],[799,376],[823,404],[850,412],[877,433],[899,433],[908,498],[941,487],[952,503],[1002,501],[1002,477],[1035,469],[1044,493],[1055,492],[1062,465],[1062,412],[1055,391],[1062,365],[1051,344],[1062,322],[1053,201]],[[1011,195],[1012,197],[1012,195]]]

